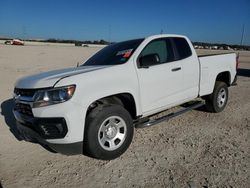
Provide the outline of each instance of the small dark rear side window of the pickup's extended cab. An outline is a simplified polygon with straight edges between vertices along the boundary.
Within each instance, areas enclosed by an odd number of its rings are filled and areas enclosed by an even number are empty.
[[[185,59],[192,55],[192,51],[186,39],[184,38],[173,38],[176,50],[178,52],[178,60]]]

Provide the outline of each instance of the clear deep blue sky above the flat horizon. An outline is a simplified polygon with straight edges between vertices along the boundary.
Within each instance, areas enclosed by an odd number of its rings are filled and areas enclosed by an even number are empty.
[[[250,0],[0,0],[0,36],[122,41],[159,33],[250,45]]]

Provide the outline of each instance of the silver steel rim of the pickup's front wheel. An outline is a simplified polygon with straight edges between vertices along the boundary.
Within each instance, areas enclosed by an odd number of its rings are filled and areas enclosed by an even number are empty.
[[[119,116],[111,116],[103,121],[98,131],[98,141],[107,151],[119,148],[127,134],[125,121]]]

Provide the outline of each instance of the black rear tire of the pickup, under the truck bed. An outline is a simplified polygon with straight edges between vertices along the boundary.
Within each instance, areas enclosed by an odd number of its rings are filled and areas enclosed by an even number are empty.
[[[224,93],[224,100],[222,100],[223,97],[221,97],[221,100],[219,99],[219,95],[223,96],[222,92]],[[206,109],[209,112],[218,113],[223,111],[228,101],[227,84],[225,82],[216,81],[213,93],[208,95],[205,98],[205,100],[206,100]]]

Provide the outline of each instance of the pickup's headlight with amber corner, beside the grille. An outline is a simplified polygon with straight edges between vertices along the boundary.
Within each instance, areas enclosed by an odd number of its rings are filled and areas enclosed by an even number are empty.
[[[65,102],[73,96],[75,88],[75,85],[71,85],[60,88],[39,90],[34,95],[33,108]]]

